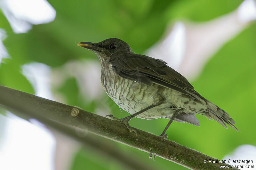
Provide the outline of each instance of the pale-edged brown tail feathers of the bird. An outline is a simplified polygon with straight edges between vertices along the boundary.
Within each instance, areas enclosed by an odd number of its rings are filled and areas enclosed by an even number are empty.
[[[236,129],[236,131],[239,131],[234,126],[235,121],[228,115],[227,112],[225,112],[224,110],[222,110],[220,107],[216,106],[209,100],[206,100],[205,102],[208,106],[208,109],[207,109],[208,113],[207,112],[204,113],[205,117],[207,117],[209,120],[214,119],[215,121],[219,122],[222,126],[228,129],[227,125],[225,124],[227,123],[232,128]]]

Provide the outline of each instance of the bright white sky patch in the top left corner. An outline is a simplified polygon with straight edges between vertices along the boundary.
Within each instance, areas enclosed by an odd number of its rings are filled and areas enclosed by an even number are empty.
[[[15,33],[26,33],[32,28],[31,24],[49,23],[56,16],[46,0],[2,0],[0,8]]]

